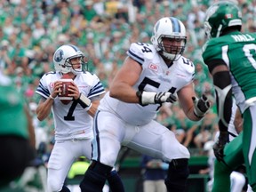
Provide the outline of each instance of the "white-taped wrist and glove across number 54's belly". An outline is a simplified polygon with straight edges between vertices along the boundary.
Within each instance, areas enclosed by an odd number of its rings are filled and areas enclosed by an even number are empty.
[[[171,92],[136,92],[140,105],[161,104],[164,102],[175,102],[177,98]]]

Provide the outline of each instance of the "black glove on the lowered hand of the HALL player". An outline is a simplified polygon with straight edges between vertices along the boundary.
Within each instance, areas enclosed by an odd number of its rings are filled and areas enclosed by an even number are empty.
[[[223,161],[224,155],[224,147],[228,142],[228,132],[220,132],[219,140],[213,145],[214,156],[216,156],[217,160]]]

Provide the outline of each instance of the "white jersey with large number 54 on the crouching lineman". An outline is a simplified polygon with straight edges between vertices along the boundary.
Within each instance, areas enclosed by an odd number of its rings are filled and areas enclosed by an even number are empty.
[[[176,93],[194,79],[195,66],[192,61],[181,56],[168,68],[152,44],[133,43],[127,54],[142,67],[140,79],[133,86],[135,90]],[[99,109],[112,111],[128,124],[143,125],[156,116],[160,107],[159,104],[141,106],[125,103],[109,97],[107,92],[100,100]]]

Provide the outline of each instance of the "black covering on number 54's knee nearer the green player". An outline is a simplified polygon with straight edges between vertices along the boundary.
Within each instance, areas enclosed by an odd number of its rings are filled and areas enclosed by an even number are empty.
[[[165,185],[168,191],[183,192],[188,180],[188,159],[172,159],[169,164]]]

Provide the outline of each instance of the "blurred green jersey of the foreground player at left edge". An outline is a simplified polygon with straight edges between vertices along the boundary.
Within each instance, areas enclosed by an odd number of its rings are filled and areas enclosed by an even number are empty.
[[[27,139],[28,121],[23,108],[24,97],[12,82],[5,81],[6,77],[1,74],[0,80],[0,135],[15,135]]]

